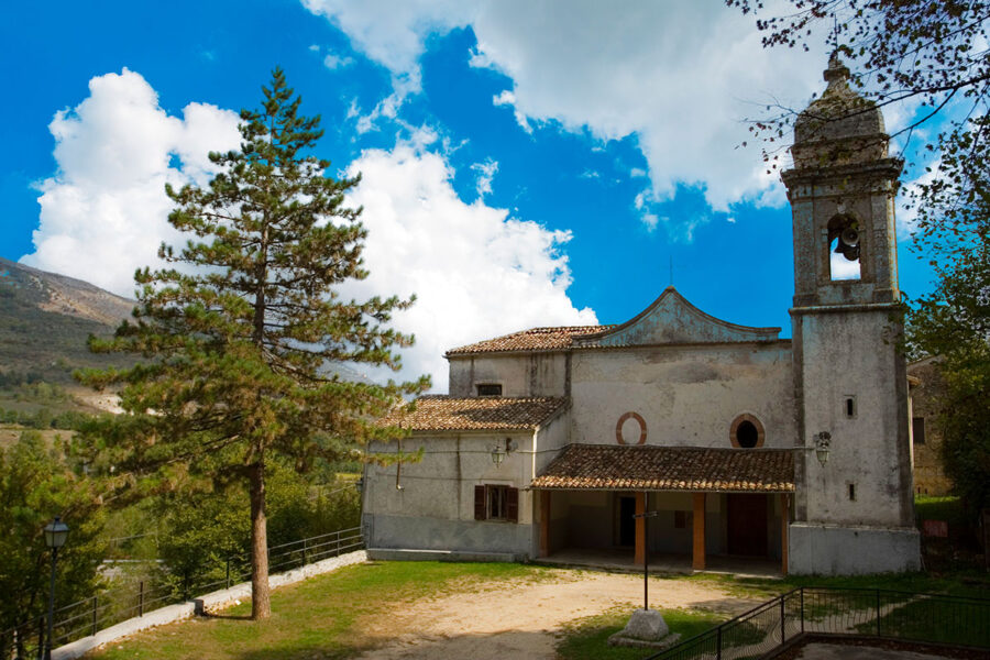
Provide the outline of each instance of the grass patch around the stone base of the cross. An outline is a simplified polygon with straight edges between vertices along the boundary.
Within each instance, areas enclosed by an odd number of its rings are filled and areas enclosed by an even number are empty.
[[[727,615],[698,609],[661,609],[671,632],[681,640],[700,635],[726,620]],[[572,622],[557,646],[560,660],[641,660],[649,650],[608,646],[608,637],[622,630],[631,614],[628,607],[614,607],[602,614]]]

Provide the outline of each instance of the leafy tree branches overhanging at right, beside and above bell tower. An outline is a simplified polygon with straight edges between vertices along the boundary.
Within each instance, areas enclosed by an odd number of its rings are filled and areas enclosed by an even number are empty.
[[[990,507],[990,2],[788,0],[785,15],[767,15],[761,0],[726,4],[757,16],[765,47],[807,50],[821,24],[851,58],[867,99],[920,103],[900,132],[909,148],[915,133],[923,138],[914,155],[926,170],[908,197],[914,250],[930,260],[936,286],[908,309],[909,349],[938,356],[946,470],[971,510]],[[774,145],[787,142],[800,109],[776,110],[751,127]],[[763,156],[776,166],[773,148]]]

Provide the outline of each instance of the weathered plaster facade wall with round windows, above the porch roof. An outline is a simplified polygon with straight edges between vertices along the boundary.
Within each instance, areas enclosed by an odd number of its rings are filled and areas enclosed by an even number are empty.
[[[792,447],[795,406],[788,341],[576,351],[571,376],[571,440],[616,442],[627,411],[647,425],[647,444],[732,447],[741,414],[763,426],[763,447]],[[627,442],[638,425],[624,425]]]

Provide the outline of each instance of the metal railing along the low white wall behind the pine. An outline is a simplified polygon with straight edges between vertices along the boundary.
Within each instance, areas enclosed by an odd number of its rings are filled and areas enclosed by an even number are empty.
[[[278,573],[338,557],[364,547],[361,528],[331,531],[298,541],[268,548],[268,571]],[[103,590],[82,601],[55,609],[52,648],[69,644],[109,628],[135,616],[189,601],[194,595],[227,588],[251,579],[249,554],[228,557],[223,563],[210,566],[209,581],[140,581]],[[217,580],[212,580],[222,575]],[[175,576],[173,576],[175,578]],[[0,631],[0,660],[37,658],[44,646],[46,617],[38,616],[19,626]]]

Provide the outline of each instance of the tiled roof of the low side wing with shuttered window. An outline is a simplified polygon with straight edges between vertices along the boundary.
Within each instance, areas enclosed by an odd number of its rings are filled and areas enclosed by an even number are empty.
[[[417,399],[413,413],[395,410],[378,424],[416,431],[534,429],[552,417],[566,402],[565,398],[552,397],[424,396]]]

